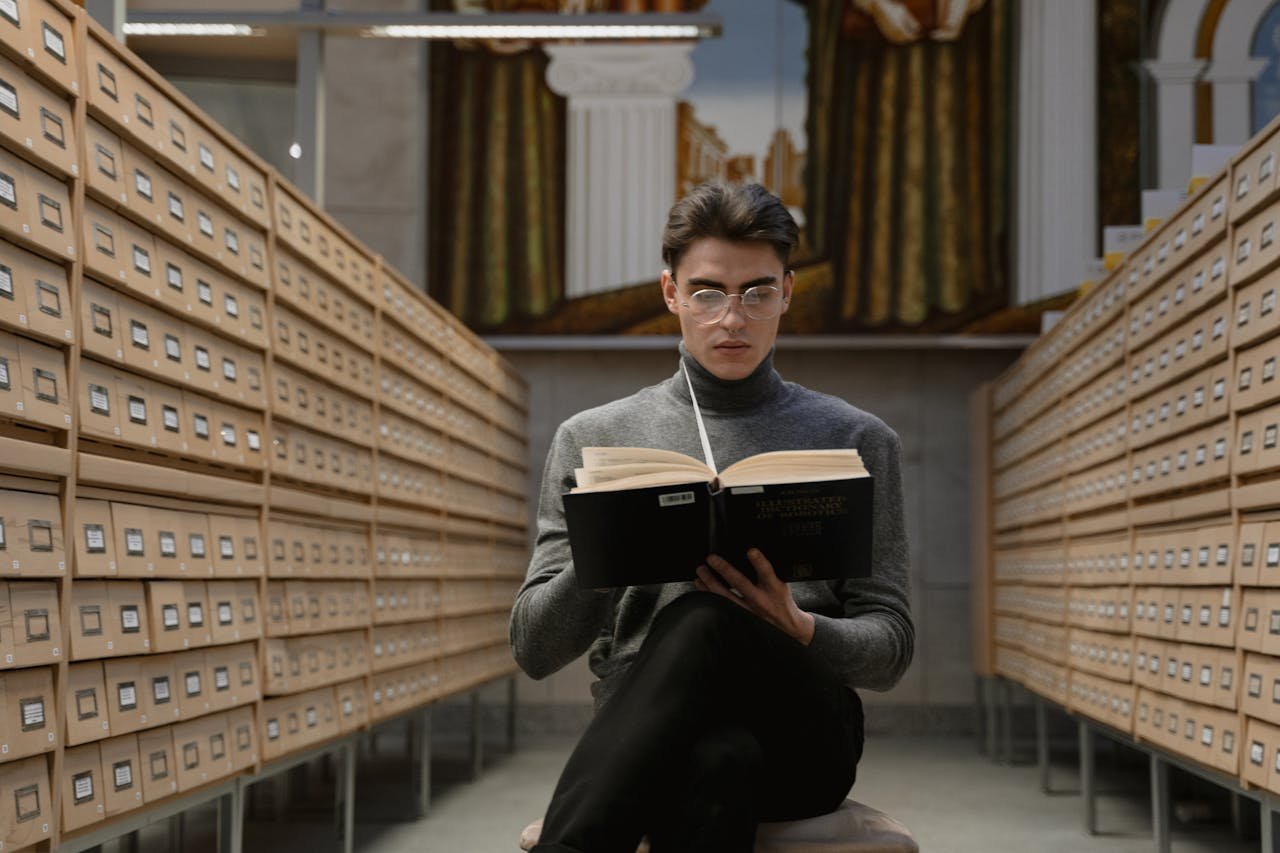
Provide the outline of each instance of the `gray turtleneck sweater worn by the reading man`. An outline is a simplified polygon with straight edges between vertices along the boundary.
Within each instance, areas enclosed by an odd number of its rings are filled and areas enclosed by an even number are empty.
[[[680,347],[701,407],[716,464],[777,450],[855,447],[876,479],[873,574],[858,580],[791,584],[796,603],[814,613],[809,646],[852,688],[887,690],[911,662],[915,628],[908,605],[906,530],[902,523],[901,446],[882,420],[847,402],[783,382],[772,353],[748,378],[719,379]],[[698,424],[681,370],[630,397],[589,409],[552,439],[538,506],[538,539],[511,615],[511,647],[520,666],[541,679],[590,651],[596,707],[632,661],[654,616],[692,583],[581,589],[561,496],[573,487],[584,447],[662,447],[703,457]],[[655,530],[654,535],[662,535]],[[767,557],[768,555],[765,555]]]

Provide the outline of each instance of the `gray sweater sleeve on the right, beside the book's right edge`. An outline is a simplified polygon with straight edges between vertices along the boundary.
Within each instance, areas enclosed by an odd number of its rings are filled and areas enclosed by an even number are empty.
[[[901,443],[879,425],[859,442],[876,478],[872,520],[872,576],[840,581],[842,617],[814,615],[812,653],[854,688],[888,690],[911,662],[915,626],[908,602],[910,548],[902,519]]]

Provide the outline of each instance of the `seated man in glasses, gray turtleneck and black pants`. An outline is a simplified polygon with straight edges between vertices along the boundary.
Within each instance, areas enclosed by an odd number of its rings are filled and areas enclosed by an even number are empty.
[[[797,237],[782,202],[756,184],[704,184],[678,201],[663,234],[662,293],[680,318],[681,368],[570,418],[552,442],[512,651],[534,678],[590,651],[599,680],[595,717],[535,850],[632,853],[648,836],[653,853],[749,853],[756,822],[842,802],[863,748],[854,688],[888,689],[910,663],[897,435],[773,369]],[[785,584],[753,551],[756,583],[708,555],[689,583],[579,588],[562,496],[581,448],[700,457],[691,389],[721,466],[774,450],[859,450],[876,478],[872,578]]]

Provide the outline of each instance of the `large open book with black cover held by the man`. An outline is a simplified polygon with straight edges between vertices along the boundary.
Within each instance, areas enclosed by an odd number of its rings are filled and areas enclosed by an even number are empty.
[[[718,474],[691,456],[588,447],[564,496],[582,587],[691,581],[709,553],[754,576],[759,548],[783,580],[870,574],[872,478],[856,450],[774,451]]]

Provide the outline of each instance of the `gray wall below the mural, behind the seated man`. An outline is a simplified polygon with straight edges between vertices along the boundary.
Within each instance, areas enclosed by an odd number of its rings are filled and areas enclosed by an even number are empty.
[[[776,365],[786,379],[879,415],[902,439],[916,651],[893,690],[864,693],[869,725],[965,727],[973,703],[968,396],[1018,353],[800,346],[797,341],[788,348],[786,336],[780,338]],[[564,418],[660,382],[676,369],[673,345],[662,350],[506,348],[503,355],[530,386],[531,494],[539,488],[550,438]],[[591,680],[585,660],[543,681],[520,676],[524,727],[573,729],[589,710]]]

